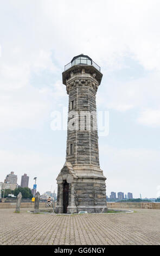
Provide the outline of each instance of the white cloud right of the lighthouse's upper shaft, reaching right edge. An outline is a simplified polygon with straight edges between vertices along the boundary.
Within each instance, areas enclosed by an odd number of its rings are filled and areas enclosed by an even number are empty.
[[[125,112],[134,109],[139,124],[159,126],[160,73],[130,81],[108,79],[101,84],[97,94],[98,106]],[[103,88],[101,88],[103,87]],[[107,100],[106,100],[107,99]],[[135,113],[136,113],[135,112]]]

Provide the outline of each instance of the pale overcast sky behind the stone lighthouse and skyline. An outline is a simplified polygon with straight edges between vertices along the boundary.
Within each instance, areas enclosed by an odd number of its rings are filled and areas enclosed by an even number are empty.
[[[68,106],[64,65],[81,53],[101,66],[97,108],[109,111],[99,136],[100,167],[111,191],[160,196],[159,0],[1,0],[0,181],[11,171],[32,188],[56,189],[66,131],[52,112]]]

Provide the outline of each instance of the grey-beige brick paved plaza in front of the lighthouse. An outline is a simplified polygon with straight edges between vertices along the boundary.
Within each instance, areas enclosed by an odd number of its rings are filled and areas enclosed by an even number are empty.
[[[27,210],[0,210],[1,245],[160,245],[159,210],[70,216]]]

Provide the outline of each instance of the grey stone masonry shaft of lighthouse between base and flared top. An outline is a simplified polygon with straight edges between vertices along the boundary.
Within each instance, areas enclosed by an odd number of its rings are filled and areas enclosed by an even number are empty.
[[[74,109],[70,109],[70,102],[72,100],[74,100]],[[71,88],[71,90],[69,90],[68,108],[68,113],[71,114],[71,116],[68,117],[68,122],[73,120],[73,127],[78,125],[78,128],[77,130],[68,130],[67,132],[66,161],[69,161],[72,164],[95,164],[99,166],[98,132],[97,130],[92,129],[92,117],[90,118],[91,130],[80,130],[82,127],[80,123],[80,121],[82,121],[82,119],[80,119],[82,111],[87,111],[89,113],[92,113],[93,111],[96,112],[95,89],[89,86],[77,86]],[[73,111],[78,114],[79,120],[75,120]],[[87,117],[88,115],[86,114],[86,119]],[[86,121],[89,121],[89,118]],[[95,122],[97,122],[97,120],[95,120]],[[82,128],[85,129],[85,124]],[[69,154],[69,143],[73,143],[73,155]]]

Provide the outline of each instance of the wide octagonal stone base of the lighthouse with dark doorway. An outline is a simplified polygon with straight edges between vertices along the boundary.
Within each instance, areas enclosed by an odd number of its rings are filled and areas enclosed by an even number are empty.
[[[57,177],[57,214],[107,212],[103,171],[93,164],[66,162]]]

